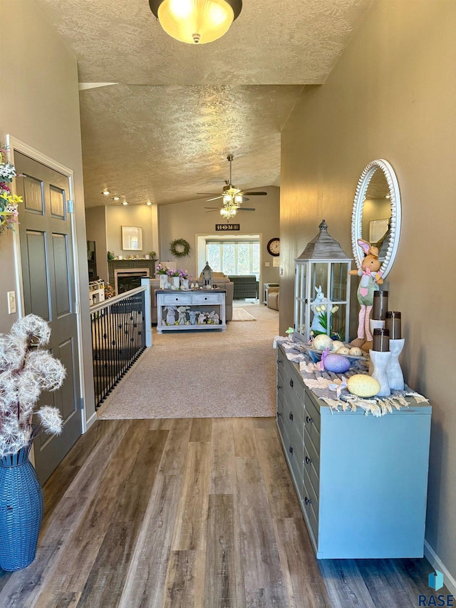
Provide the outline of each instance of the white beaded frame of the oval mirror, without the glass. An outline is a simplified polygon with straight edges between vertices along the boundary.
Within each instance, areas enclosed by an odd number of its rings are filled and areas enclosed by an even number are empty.
[[[388,182],[391,205],[390,239],[388,242],[388,249],[385,254],[385,259],[380,267],[382,276],[385,278],[393,266],[396,252],[398,251],[400,237],[399,184],[393,167],[391,167],[387,160],[373,160],[363,170],[361,177],[359,178],[358,186],[356,187],[355,200],[353,201],[353,213],[351,215],[351,248],[353,250],[353,257],[355,258],[356,266],[359,270],[361,269],[361,264],[363,263],[364,259],[363,249],[361,249],[361,247],[358,245],[358,239],[362,238],[361,230],[364,201],[366,200],[366,192],[368,191],[368,186],[371,182],[372,176],[378,169],[383,171],[383,175],[385,175],[385,179]]]

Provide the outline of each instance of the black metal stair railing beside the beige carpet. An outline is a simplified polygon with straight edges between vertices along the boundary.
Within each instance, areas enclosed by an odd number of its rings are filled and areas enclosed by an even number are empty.
[[[95,408],[145,350],[145,287],[90,309]]]

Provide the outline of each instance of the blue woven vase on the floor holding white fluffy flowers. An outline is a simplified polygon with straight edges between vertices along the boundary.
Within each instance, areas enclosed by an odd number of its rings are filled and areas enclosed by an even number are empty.
[[[43,490],[28,453],[0,458],[0,567],[21,570],[35,559],[43,518]]]

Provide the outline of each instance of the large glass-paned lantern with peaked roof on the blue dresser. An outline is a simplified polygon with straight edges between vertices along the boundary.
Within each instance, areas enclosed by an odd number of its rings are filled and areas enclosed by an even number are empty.
[[[309,342],[317,334],[348,341],[351,258],[328,235],[320,232],[295,260],[294,337]]]

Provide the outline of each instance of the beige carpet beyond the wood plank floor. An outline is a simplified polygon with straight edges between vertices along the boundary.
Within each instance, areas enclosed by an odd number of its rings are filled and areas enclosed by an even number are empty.
[[[256,323],[227,331],[157,334],[98,410],[109,418],[274,416],[279,313],[249,306]]]

